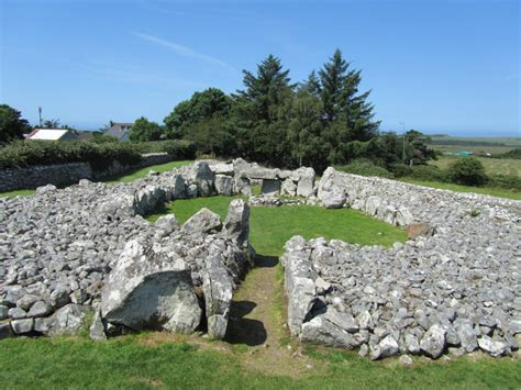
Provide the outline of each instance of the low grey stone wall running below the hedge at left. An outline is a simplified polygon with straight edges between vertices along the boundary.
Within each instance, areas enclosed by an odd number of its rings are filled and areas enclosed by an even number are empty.
[[[164,164],[170,160],[170,156],[166,153],[153,153],[143,155],[140,164],[124,166],[119,161],[113,161],[107,169],[101,171],[92,170],[88,163],[37,165],[26,168],[2,169],[0,170],[0,192],[37,188],[45,185],[63,187],[77,183],[81,179],[101,180],[132,169]]]

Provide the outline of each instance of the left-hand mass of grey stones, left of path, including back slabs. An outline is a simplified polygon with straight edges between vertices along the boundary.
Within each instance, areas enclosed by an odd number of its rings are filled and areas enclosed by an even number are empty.
[[[198,161],[125,185],[81,180],[63,190],[0,199],[0,338],[78,332],[95,312],[92,336],[207,327],[222,338],[232,291],[252,265],[248,205],[226,220],[201,210],[182,226],[174,215],[143,219],[175,199],[312,194],[314,171],[268,169],[243,159]]]

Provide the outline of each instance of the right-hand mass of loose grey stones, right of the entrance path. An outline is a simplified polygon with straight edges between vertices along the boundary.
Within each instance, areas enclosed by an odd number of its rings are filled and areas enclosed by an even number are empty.
[[[325,207],[429,224],[392,248],[296,236],[282,257],[288,326],[302,342],[437,358],[510,355],[521,335],[521,202],[328,168]]]

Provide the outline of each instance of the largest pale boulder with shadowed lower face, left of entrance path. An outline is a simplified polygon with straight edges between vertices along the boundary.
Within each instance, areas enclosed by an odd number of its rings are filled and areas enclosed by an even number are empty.
[[[137,241],[126,244],[110,274],[101,313],[106,321],[134,331],[191,333],[201,319],[186,263],[175,253]]]

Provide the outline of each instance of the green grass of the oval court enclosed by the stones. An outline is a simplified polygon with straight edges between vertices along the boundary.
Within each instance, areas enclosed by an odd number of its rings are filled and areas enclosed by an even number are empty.
[[[212,197],[170,202],[159,214],[149,215],[155,221],[163,213],[174,213],[184,223],[202,208],[221,215],[228,214],[232,198]],[[407,239],[403,230],[372,219],[361,212],[341,209],[329,210],[318,205],[291,205],[281,208],[252,208],[250,218],[251,243],[258,254],[279,256],[284,244],[293,235],[307,239],[339,238],[353,244],[390,246]]]

